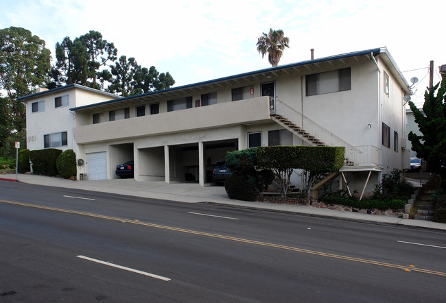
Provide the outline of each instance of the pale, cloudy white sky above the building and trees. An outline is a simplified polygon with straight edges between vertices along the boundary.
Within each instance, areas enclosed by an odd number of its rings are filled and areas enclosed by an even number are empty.
[[[438,66],[446,64],[441,0],[1,0],[0,29],[23,27],[56,43],[90,30],[113,42],[118,56],[169,72],[183,86],[270,67],[257,38],[270,28],[290,38],[279,65],[387,47],[422,106]],[[442,35],[443,34],[443,35]],[[53,60],[52,64],[55,61]]]

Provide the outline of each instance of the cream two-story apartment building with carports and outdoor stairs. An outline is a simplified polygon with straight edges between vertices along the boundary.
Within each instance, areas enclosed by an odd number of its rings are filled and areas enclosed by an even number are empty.
[[[73,103],[62,114],[58,105],[66,101],[57,98],[64,94]],[[334,182],[362,193],[383,173],[408,168],[405,95],[410,89],[395,61],[377,48],[132,97],[64,86],[21,99],[28,148],[72,146],[84,159],[78,173],[89,180],[117,178],[115,166],[134,160],[135,180],[204,185],[226,151],[342,145],[346,161]],[[51,108],[39,116],[33,111],[42,100]],[[303,177],[296,171],[292,180],[301,186]]]

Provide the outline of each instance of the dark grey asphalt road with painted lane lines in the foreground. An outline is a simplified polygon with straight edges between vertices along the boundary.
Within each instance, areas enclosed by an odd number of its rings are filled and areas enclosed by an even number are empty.
[[[446,300],[432,230],[0,182],[0,247],[0,302]]]

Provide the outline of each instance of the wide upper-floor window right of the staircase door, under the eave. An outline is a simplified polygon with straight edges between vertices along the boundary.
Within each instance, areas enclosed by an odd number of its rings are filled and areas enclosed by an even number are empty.
[[[305,76],[307,96],[335,93],[351,89],[351,70],[338,69],[325,73],[314,73]]]

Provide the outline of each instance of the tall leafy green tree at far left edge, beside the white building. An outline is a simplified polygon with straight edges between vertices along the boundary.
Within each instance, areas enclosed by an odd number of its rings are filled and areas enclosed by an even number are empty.
[[[16,98],[46,86],[51,69],[51,51],[45,41],[21,27],[0,29],[0,89],[8,94],[8,106],[14,117],[13,128],[25,128],[26,106]]]

